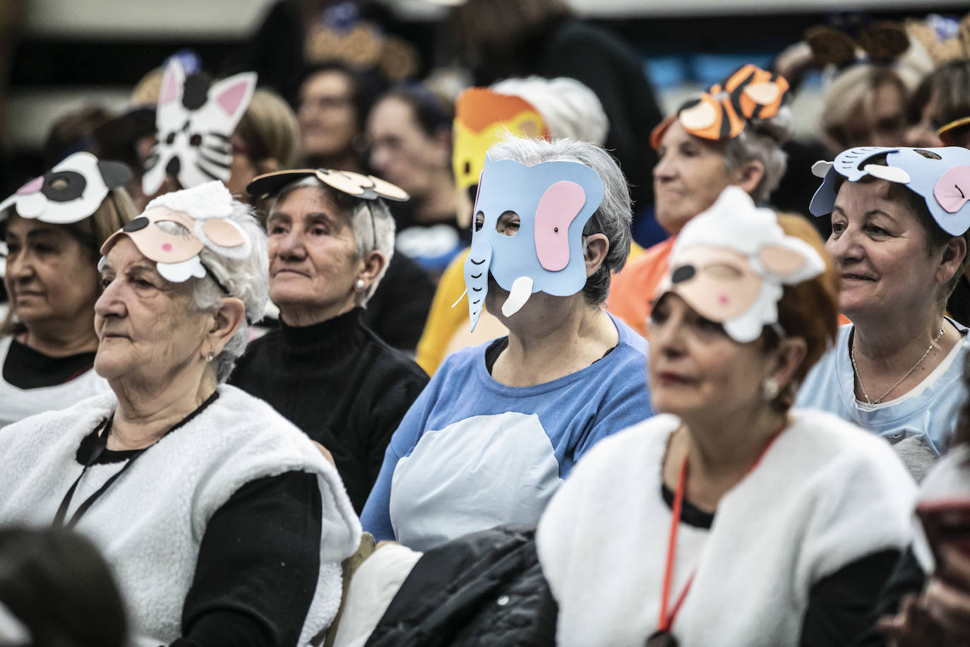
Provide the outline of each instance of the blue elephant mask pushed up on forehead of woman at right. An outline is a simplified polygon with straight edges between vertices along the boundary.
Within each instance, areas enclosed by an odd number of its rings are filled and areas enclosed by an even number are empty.
[[[887,166],[869,163],[883,154]],[[835,207],[838,175],[852,182],[872,176],[905,184],[920,195],[933,219],[948,234],[962,236],[970,229],[970,150],[966,148],[860,146],[839,153],[834,162],[816,162],[812,173],[824,178],[809,206],[813,215],[825,215]]]

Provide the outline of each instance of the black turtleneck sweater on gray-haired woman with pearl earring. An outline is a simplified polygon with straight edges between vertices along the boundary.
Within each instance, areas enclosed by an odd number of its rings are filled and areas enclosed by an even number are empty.
[[[428,375],[361,323],[361,308],[253,340],[229,378],[330,450],[360,514],[384,450]]]

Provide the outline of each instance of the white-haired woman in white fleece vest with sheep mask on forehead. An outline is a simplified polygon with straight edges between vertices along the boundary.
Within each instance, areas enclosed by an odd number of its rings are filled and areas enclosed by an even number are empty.
[[[94,367],[112,392],[0,432],[0,523],[92,538],[135,644],[310,644],[360,526],[313,443],[221,384],[266,305],[265,235],[213,181],[102,252]]]

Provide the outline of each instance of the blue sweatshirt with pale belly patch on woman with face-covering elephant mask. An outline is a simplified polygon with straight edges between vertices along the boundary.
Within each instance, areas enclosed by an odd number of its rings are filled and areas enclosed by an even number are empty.
[[[646,341],[611,318],[612,352],[544,384],[497,382],[488,343],[449,356],[391,438],[365,530],[427,550],[500,524],[534,526],[584,452],[653,415]]]

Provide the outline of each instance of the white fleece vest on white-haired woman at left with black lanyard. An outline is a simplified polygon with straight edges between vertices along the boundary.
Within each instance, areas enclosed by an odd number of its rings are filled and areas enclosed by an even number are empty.
[[[0,524],[51,523],[81,473],[81,438],[116,406],[113,393],[103,394],[0,430]],[[93,466],[81,484],[117,469]],[[112,565],[136,644],[157,647],[181,635],[182,605],[212,514],[245,483],[287,471],[315,473],[323,503],[320,575],[300,645],[329,626],[340,602],[340,562],[361,533],[337,470],[269,404],[222,385],[215,402],[152,445],[76,527]]]

